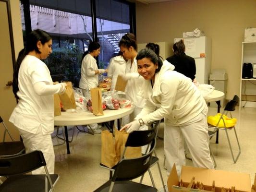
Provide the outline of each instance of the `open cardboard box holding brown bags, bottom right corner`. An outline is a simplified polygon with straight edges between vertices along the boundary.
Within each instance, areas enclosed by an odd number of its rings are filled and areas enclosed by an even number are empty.
[[[195,183],[199,181],[204,184],[204,190],[186,188],[193,177],[195,177]],[[226,190],[235,187],[235,190],[239,192],[252,191],[250,175],[247,173],[183,166],[181,180],[183,180],[183,187],[178,187],[180,181],[178,179],[176,166],[173,165],[167,180],[169,192],[211,191],[213,180],[215,181],[215,192],[221,192],[222,187]],[[254,186],[256,186],[256,180]]]

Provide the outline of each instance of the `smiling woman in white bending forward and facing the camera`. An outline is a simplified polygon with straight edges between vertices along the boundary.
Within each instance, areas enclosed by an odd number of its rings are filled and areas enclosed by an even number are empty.
[[[150,49],[142,49],[137,57],[138,73],[143,79],[139,95],[145,107],[134,121],[125,125],[127,132],[164,118],[164,150],[168,171],[176,164],[178,173],[185,165],[183,138],[196,167],[214,168],[209,152],[207,105],[200,91],[183,74]],[[137,80],[138,81],[138,80]]]

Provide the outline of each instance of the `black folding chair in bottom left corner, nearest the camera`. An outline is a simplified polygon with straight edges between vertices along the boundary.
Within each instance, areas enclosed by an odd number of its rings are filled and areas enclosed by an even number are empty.
[[[25,175],[44,166],[44,175]],[[0,185],[0,192],[54,192],[53,185],[59,179],[49,174],[41,151],[0,158],[0,176],[8,177]]]

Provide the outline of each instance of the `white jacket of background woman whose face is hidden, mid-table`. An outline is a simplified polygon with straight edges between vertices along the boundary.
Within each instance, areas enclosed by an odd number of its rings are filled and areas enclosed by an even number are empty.
[[[116,86],[117,76],[119,74],[125,73],[126,61],[121,55],[116,56],[110,60],[110,65],[108,67],[108,77],[112,79],[111,81],[111,91],[114,90]]]

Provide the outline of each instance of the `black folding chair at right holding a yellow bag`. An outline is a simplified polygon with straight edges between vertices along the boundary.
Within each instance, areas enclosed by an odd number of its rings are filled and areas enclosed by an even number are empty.
[[[232,127],[227,127],[226,124],[225,124],[225,120],[223,118],[223,115],[230,115],[230,117],[232,118],[232,113],[231,111],[234,111],[235,110],[235,106],[237,105],[237,103],[239,102],[239,97],[238,96],[234,96],[232,100],[230,100],[227,105],[225,106],[223,112],[221,113],[220,115],[220,118],[215,125],[211,125],[211,124],[208,124],[208,127],[209,128],[213,128],[215,130],[225,130],[226,132],[226,135],[227,135],[227,139],[228,139],[228,143],[229,143],[229,147],[230,147],[230,151],[231,151],[231,155],[232,155],[232,159],[233,159],[233,162],[236,163],[238,157],[240,156],[241,154],[241,147],[240,147],[240,144],[239,144],[239,141],[238,141],[238,137],[237,137],[237,133],[236,133],[236,130],[235,130],[235,126],[232,126]],[[219,127],[219,123],[220,121],[223,121],[224,123],[224,127]],[[235,133],[235,138],[236,138],[236,142],[237,142],[237,145],[238,145],[238,154],[237,156],[235,157],[234,154],[233,154],[233,150],[232,150],[232,145],[231,145],[231,142],[230,142],[230,138],[229,138],[229,134],[228,132],[230,130],[234,130],[234,133]]]

